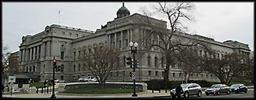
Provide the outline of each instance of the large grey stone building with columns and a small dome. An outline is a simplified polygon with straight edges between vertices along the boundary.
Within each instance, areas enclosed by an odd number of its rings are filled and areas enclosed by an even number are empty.
[[[123,6],[117,11],[117,17],[109,21],[96,32],[62,25],[47,25],[45,31],[33,36],[23,36],[20,43],[20,70],[28,73],[40,75],[40,79],[52,79],[52,59],[57,60],[57,65],[61,66],[61,71],[55,73],[55,78],[66,80],[67,82],[76,82],[80,76],[93,76],[86,71],[83,63],[78,59],[83,52],[90,52],[98,46],[108,46],[120,49],[122,54],[120,60],[124,61],[124,68],[111,73],[108,80],[131,80],[129,72],[132,69],[125,63],[126,57],[131,57],[131,48],[129,41],[138,41],[143,34],[147,34],[147,29],[138,28],[138,24],[145,20],[144,15],[134,13],[130,15],[127,8]],[[150,18],[154,25],[166,28],[166,22]],[[191,35],[186,33],[175,34],[180,39],[195,39],[209,43],[218,57],[233,52],[250,55],[250,48],[244,43],[238,41],[225,41],[223,43],[214,41],[212,38],[206,38],[200,35]],[[153,43],[161,44],[159,39],[154,39]],[[159,49],[152,48],[152,52],[145,53],[145,44],[138,46],[139,68],[136,69],[136,80],[163,79],[164,64],[163,56],[159,54]],[[200,50],[200,54],[204,54]],[[159,62],[160,61],[160,62]],[[162,61],[162,62],[161,62]],[[159,64],[161,63],[161,64]],[[184,72],[180,66],[170,67],[170,80],[183,80]],[[190,80],[209,80],[219,81],[216,76],[206,73],[191,73]]]

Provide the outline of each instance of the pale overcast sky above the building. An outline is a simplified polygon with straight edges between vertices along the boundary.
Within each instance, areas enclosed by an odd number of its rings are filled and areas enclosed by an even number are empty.
[[[44,31],[47,25],[59,24],[90,31],[100,29],[101,25],[116,18],[116,11],[122,2],[106,3],[14,3],[3,2],[3,46],[9,52],[19,50],[22,36],[35,35]],[[125,2],[131,15],[140,13],[143,6],[154,3]],[[237,3],[193,3],[195,22],[189,22],[188,32],[198,34],[215,41],[229,39],[246,43],[251,50],[253,45],[253,8],[252,2]],[[60,16],[58,11],[60,10]],[[155,18],[161,17],[155,15]]]

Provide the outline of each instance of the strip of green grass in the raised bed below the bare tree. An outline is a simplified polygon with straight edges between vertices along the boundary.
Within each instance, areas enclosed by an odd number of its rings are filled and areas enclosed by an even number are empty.
[[[140,92],[136,90],[136,92]],[[64,93],[75,94],[118,94],[118,93],[133,93],[133,89],[76,89],[66,90]]]

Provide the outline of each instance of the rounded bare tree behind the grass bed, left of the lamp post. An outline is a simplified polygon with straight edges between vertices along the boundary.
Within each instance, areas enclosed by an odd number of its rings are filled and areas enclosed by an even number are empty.
[[[120,52],[102,46],[83,54],[81,61],[84,68],[90,71],[98,80],[101,88],[105,88],[105,83],[111,72],[118,70],[123,64],[119,59]]]

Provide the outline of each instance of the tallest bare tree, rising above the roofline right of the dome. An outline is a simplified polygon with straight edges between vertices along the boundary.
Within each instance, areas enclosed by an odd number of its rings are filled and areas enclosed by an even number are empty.
[[[141,23],[141,26],[147,29],[148,34],[143,34],[141,43],[146,46],[147,50],[151,48],[159,48],[161,54],[164,55],[165,69],[164,69],[164,80],[169,80],[169,70],[170,66],[174,66],[177,62],[175,55],[179,53],[183,46],[197,46],[200,44],[199,41],[194,41],[191,39],[179,39],[175,36],[179,34],[184,34],[185,25],[182,23],[182,20],[192,20],[188,13],[194,9],[193,4],[191,3],[158,3],[153,5],[155,10],[154,13],[160,13],[164,17],[168,18],[168,25],[170,25],[170,30],[164,27],[165,25],[156,24],[154,19],[150,18],[152,13],[148,12],[143,8],[143,13],[146,16],[146,19],[141,19],[144,23]],[[173,38],[175,37],[175,38]],[[159,42],[157,43],[157,38]]]

